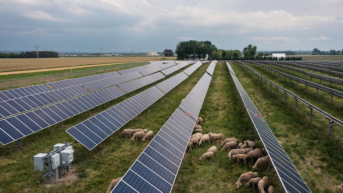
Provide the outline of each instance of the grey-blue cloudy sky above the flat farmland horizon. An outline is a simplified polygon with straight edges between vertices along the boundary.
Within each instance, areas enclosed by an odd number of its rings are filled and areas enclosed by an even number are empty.
[[[342,50],[343,0],[0,0],[0,50]]]

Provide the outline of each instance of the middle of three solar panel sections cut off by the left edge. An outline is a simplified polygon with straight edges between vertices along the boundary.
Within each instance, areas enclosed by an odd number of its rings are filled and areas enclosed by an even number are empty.
[[[59,90],[51,90],[30,96],[24,96],[22,98],[9,101],[2,101],[0,102],[0,118],[23,113],[25,111],[67,100],[85,93],[88,93],[88,91],[82,86],[74,86]]]

